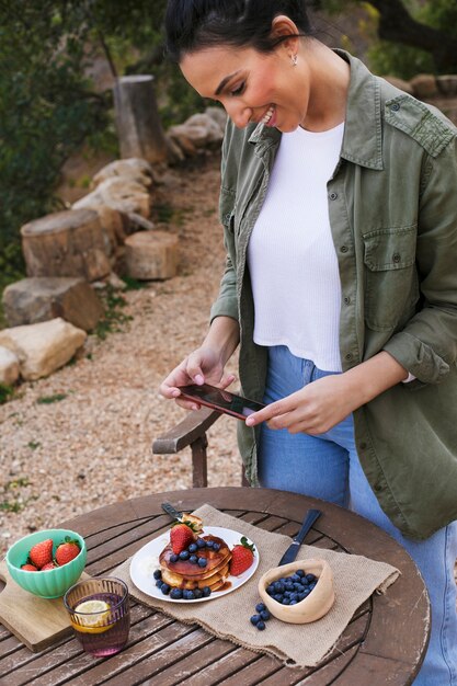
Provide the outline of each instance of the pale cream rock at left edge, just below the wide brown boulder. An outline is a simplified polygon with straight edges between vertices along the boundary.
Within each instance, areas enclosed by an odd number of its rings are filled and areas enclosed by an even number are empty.
[[[21,376],[34,381],[71,359],[87,339],[85,331],[61,318],[0,331],[0,345],[15,353]]]

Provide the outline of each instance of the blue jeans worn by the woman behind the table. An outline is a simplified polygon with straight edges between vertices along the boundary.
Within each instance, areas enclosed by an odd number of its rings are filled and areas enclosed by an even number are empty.
[[[332,374],[295,357],[284,345],[269,348],[264,402],[288,396]],[[265,488],[304,493],[350,507],[390,534],[421,571],[432,605],[429,650],[414,686],[457,686],[457,611],[454,564],[457,522],[425,541],[404,538],[380,508],[358,461],[352,415],[319,436],[272,431],[262,424],[259,479]]]

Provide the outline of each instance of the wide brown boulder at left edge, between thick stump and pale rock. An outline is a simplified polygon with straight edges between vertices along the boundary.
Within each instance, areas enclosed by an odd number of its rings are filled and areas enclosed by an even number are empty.
[[[103,306],[87,281],[58,276],[23,278],[7,286],[3,309],[10,327],[61,317],[84,331],[92,331],[103,315]]]

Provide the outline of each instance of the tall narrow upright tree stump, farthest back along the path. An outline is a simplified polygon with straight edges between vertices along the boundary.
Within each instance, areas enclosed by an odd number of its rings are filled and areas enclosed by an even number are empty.
[[[168,144],[160,123],[150,75],[121,77],[114,85],[114,108],[122,158],[164,162]]]

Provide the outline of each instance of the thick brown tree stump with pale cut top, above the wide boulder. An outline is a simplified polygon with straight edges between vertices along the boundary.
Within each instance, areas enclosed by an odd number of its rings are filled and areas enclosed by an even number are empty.
[[[83,276],[93,282],[111,272],[110,245],[93,209],[68,209],[21,229],[27,276]]]

